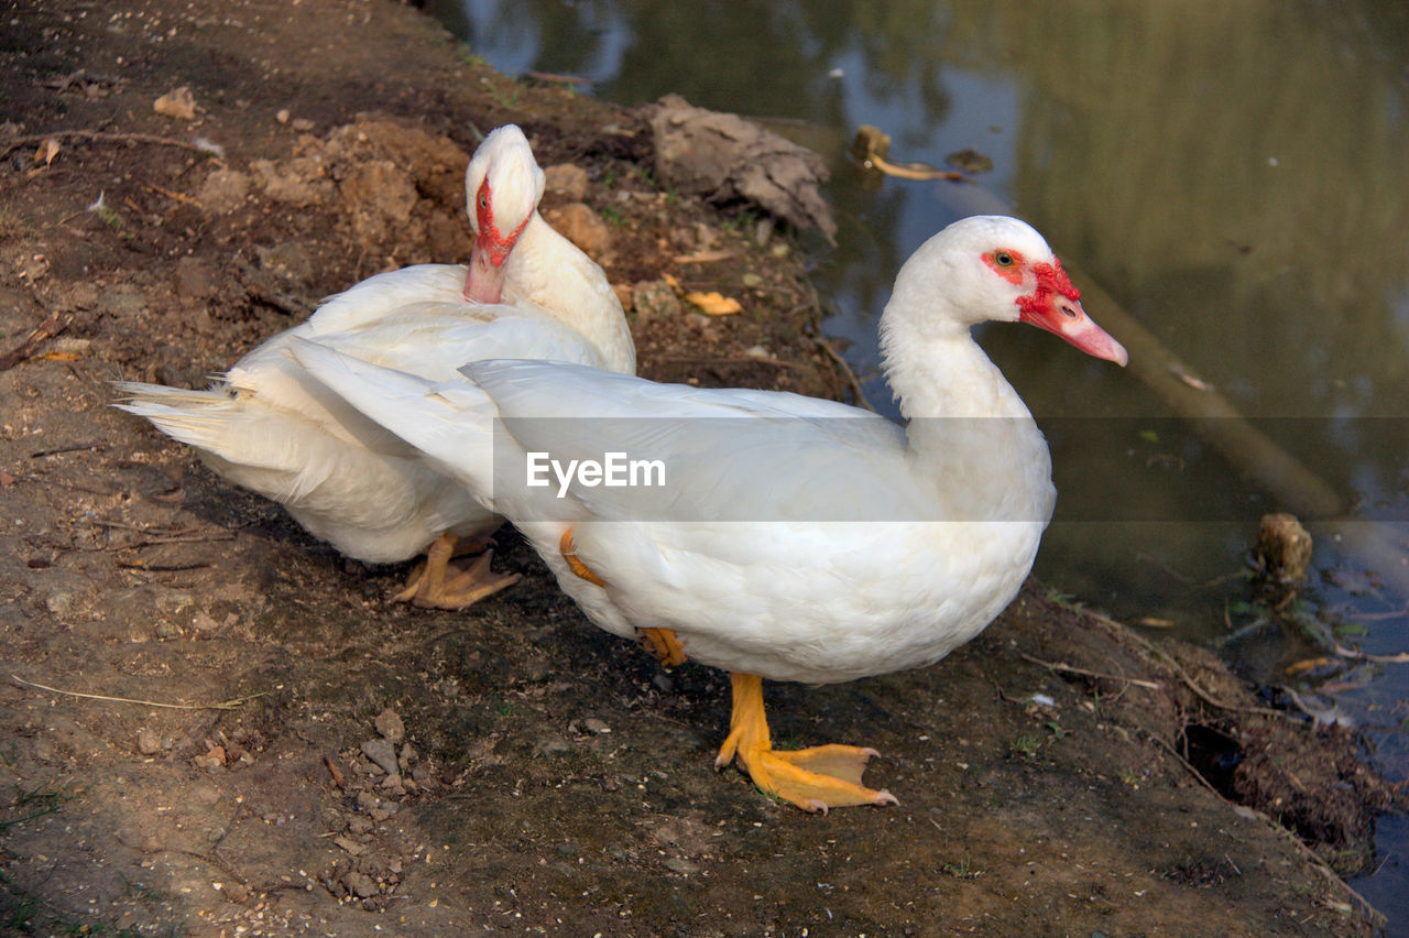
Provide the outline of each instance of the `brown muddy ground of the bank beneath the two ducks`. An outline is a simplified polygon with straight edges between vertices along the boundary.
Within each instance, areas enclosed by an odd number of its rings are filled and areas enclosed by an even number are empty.
[[[1031,584],[934,668],[771,686],[776,738],[876,746],[900,799],[810,817],[712,769],[724,675],[590,627],[511,531],[514,589],[407,608],[406,568],[113,410],[113,377],[200,386],[321,296],[464,259],[464,161],[509,120],[586,169],[545,214],[643,373],[847,392],[805,258],[662,192],[637,115],[385,0],[123,7],[0,14],[0,932],[1375,930],[1327,863],[1372,859],[1392,792],[1198,649]]]

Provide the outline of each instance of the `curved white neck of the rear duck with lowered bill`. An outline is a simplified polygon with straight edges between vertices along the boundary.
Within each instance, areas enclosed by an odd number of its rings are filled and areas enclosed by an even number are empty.
[[[534,211],[504,262],[506,300],[527,299],[581,332],[606,368],[635,373],[635,345],[602,268]]]

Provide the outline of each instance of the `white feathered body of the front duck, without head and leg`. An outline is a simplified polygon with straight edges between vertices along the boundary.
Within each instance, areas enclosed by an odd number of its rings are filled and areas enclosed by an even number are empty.
[[[1006,403],[1020,411],[921,431],[950,434],[968,461],[989,463],[972,473],[976,489],[961,490],[927,465],[940,441],[916,446],[899,425],[831,401],[545,362],[480,362],[464,369],[469,384],[434,384],[327,349],[296,354],[469,490],[493,493],[596,625],[623,637],[674,630],[692,661],[734,672],[828,683],[938,661],[1017,593],[1051,513],[1045,442],[1016,394]],[[485,445],[496,418],[497,458]],[[519,452],[506,456],[506,445]],[[506,484],[527,452],[566,459],[603,446],[669,454],[666,487],[689,504]],[[982,501],[1014,477],[1016,501]],[[559,552],[569,528],[606,587]]]

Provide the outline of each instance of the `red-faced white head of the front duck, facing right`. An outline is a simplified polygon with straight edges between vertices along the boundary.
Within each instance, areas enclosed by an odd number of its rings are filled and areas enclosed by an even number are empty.
[[[893,344],[896,330],[938,338],[986,321],[1030,323],[1117,365],[1129,358],[1086,317],[1043,237],[1017,218],[961,218],[920,245],[896,275],[882,342]]]

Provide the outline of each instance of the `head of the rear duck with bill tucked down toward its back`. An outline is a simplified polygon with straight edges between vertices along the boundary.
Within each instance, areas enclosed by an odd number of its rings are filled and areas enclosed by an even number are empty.
[[[465,170],[465,204],[475,246],[465,299],[499,303],[504,261],[542,199],[544,176],[523,131],[504,124],[475,149]]]

